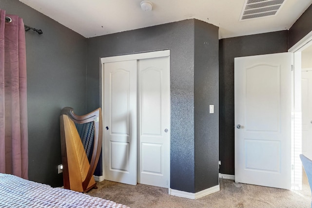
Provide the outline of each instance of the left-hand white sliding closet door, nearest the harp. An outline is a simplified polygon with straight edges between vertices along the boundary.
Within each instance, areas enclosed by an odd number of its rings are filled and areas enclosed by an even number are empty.
[[[137,60],[104,64],[104,177],[137,184]]]

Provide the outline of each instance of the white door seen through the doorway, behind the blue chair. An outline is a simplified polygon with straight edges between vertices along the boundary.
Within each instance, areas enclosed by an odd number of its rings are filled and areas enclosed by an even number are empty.
[[[312,159],[312,68],[302,71],[301,86],[302,153]]]

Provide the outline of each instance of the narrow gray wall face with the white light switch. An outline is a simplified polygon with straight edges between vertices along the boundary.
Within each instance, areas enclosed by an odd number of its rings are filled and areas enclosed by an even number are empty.
[[[218,185],[218,50],[218,27],[203,21],[195,21],[195,192]],[[209,113],[209,105],[215,105],[215,113]]]

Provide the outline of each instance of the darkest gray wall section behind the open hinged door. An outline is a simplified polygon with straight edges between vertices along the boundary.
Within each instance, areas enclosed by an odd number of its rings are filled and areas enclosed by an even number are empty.
[[[219,40],[220,173],[234,175],[234,57],[287,52],[288,31]]]

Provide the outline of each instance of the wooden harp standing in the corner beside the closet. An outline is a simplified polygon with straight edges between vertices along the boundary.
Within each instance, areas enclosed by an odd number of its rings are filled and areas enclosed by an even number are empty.
[[[59,118],[64,188],[79,192],[97,189],[93,174],[102,148],[101,108],[79,116],[65,107]]]

